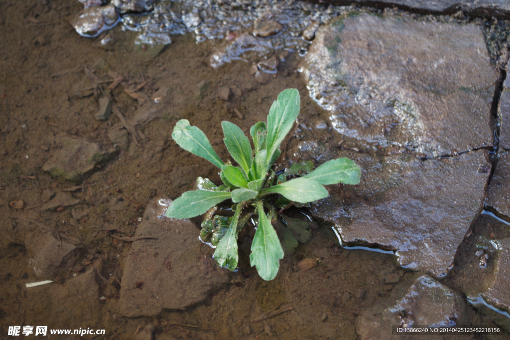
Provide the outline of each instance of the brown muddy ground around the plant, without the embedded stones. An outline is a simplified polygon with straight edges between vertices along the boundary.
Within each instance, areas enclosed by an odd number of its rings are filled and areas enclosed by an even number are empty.
[[[80,37],[68,21],[82,8],[76,1],[0,3],[1,338],[23,338],[7,336],[9,326],[40,325],[105,329],[105,336],[88,338],[132,339],[140,326],[152,325],[157,339],[353,339],[360,310],[385,301],[391,294],[393,285],[385,278],[398,276],[399,282],[412,282],[419,276],[400,268],[393,255],[339,249],[334,233],[318,228],[312,231],[309,244],[299,245],[294,255],[285,257],[273,281],[261,280],[249,267],[247,254],[241,253],[239,271],[203,303],[165,310],[154,317],[121,316],[122,270],[131,244],[112,236],[134,235],[151,199],[179,197],[193,188],[197,176],[220,181],[211,164],[182,150],[171,139],[179,119],[188,119],[205,131],[220,158],[226,159],[221,121],[232,121],[247,132],[252,124],[266,120],[272,101],[286,88],[300,92],[300,123],[315,126],[327,121],[328,115],[308,96],[297,72],[297,53],[291,53],[278,72],[261,84],[250,74],[251,64],[247,62],[213,70],[207,58],[215,42],[197,44],[191,35],[172,37],[173,42],[156,56],[150,47],[136,47],[136,33],[122,32],[120,27],[112,30],[116,43],[108,47],[100,44],[101,37]],[[146,82],[138,92],[147,97],[166,88],[166,93],[159,92],[163,95],[154,119],[140,119],[136,126],[142,133],[140,146],[125,130],[119,130],[117,116],[95,120],[98,101],[94,95],[77,96],[86,80],[84,66],[100,81],[110,81],[107,85],[112,80],[108,71],[121,74],[129,86]],[[233,89],[230,102],[218,97],[219,89],[225,86]],[[136,120],[141,105],[123,91],[122,85],[110,95],[125,118]],[[80,203],[43,209],[52,193],[76,185],[42,171],[43,164],[61,147],[62,139],[113,147],[112,133],[119,134],[115,158],[98,165],[93,174],[79,181],[79,188],[64,191]],[[330,145],[340,141],[338,134],[327,133],[292,137],[287,148],[291,150],[302,138]],[[281,167],[286,165],[285,159],[279,162]],[[23,207],[9,204],[15,200],[22,200]],[[30,260],[47,232],[59,241],[59,247],[64,242],[75,250],[52,276],[38,277]],[[206,247],[202,250],[212,252]],[[318,267],[299,271],[296,264],[303,256],[321,259]],[[199,261],[200,254],[196,258]],[[74,274],[84,279],[69,283]],[[455,274],[462,275],[458,270]],[[55,282],[25,287],[25,283],[44,279]],[[453,286],[463,284],[459,279],[449,280]],[[177,288],[181,287],[168,287]],[[264,311],[289,304],[294,310],[269,319],[267,325],[251,322]],[[490,318],[468,308],[471,324],[494,325]]]

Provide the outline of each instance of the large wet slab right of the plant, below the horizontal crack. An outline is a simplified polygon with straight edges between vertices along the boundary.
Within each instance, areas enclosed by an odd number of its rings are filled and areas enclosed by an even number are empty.
[[[395,250],[405,268],[446,275],[481,210],[488,151],[426,161],[348,151],[334,158],[340,156],[360,165],[360,185],[328,186],[314,216],[332,222],[345,242]]]

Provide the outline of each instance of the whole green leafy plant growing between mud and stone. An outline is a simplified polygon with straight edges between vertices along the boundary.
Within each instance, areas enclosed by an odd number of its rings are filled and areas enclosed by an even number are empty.
[[[264,280],[272,280],[278,273],[279,260],[284,257],[271,220],[276,209],[283,210],[327,197],[323,185],[342,182],[358,184],[361,171],[347,158],[330,160],[312,171],[313,162],[295,163],[285,173],[277,175],[272,169],[280,155],[279,145],[299,114],[299,93],[287,89],[273,102],[267,124],[258,122],[250,129],[254,149],[237,125],[221,123],[226,148],[238,166],[223,163],[213,150],[206,135],[189,121],[182,119],[175,125],[172,138],[183,149],[200,156],[221,169],[223,185],[216,186],[207,178],[198,177],[198,190],[187,191],[168,207],[170,218],[191,218],[214,210],[222,201],[232,199],[233,217],[208,216],[202,222],[200,238],[216,246],[216,263],[230,270],[238,264],[237,236],[248,219],[255,220],[257,232],[251,244],[250,263],[256,266]],[[302,175],[296,177],[297,175]],[[292,178],[296,177],[296,178]],[[291,179],[289,179],[291,178]],[[269,213],[269,218],[264,212]],[[212,212],[214,213],[214,212]],[[258,215],[258,219],[254,218]],[[297,245],[297,241],[294,240]],[[294,247],[296,246],[294,245]]]

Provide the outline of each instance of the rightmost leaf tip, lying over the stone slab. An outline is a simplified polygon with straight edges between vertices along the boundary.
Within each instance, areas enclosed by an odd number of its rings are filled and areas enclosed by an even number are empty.
[[[356,185],[360,182],[361,169],[354,161],[342,157],[327,161],[304,178],[313,179],[322,185],[339,182]]]

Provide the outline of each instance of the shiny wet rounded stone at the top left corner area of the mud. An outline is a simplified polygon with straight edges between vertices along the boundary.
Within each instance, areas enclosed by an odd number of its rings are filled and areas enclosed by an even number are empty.
[[[118,22],[118,15],[113,5],[90,6],[79,12],[69,22],[78,34],[95,37],[104,30],[111,29]]]

